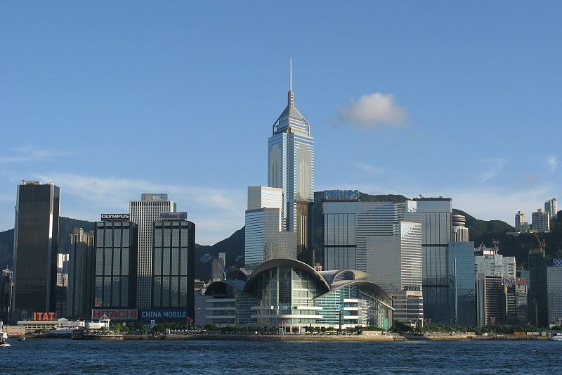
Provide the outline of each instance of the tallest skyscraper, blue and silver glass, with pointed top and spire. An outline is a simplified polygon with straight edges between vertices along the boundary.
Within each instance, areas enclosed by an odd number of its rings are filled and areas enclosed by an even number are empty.
[[[311,125],[294,106],[289,62],[287,107],[273,123],[268,141],[268,186],[283,191],[282,226],[296,232],[297,259],[314,265],[308,246],[308,213],[314,200],[314,139]]]

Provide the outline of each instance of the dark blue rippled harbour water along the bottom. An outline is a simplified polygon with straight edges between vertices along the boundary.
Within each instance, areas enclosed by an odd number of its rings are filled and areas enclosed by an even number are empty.
[[[560,374],[552,341],[11,340],[0,374]]]

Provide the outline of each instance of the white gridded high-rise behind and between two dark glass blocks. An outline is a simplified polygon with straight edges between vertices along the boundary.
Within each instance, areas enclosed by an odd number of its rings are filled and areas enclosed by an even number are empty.
[[[141,201],[129,203],[130,220],[138,225],[137,307],[149,308],[152,293],[152,223],[160,213],[175,212],[176,203],[168,194],[144,193]]]

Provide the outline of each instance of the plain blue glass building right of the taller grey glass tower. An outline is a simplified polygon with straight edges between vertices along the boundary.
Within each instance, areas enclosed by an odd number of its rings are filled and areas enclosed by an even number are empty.
[[[476,325],[474,243],[449,243],[449,308],[451,326]]]

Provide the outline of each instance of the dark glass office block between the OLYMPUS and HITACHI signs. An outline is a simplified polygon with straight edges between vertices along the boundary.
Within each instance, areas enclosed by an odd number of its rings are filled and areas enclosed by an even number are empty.
[[[96,222],[93,307],[135,308],[137,225],[129,220]]]

